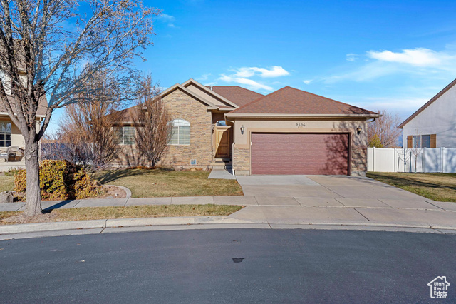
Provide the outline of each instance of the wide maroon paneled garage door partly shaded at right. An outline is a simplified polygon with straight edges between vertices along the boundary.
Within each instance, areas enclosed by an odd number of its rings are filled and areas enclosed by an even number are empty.
[[[348,175],[348,134],[252,133],[252,174]]]

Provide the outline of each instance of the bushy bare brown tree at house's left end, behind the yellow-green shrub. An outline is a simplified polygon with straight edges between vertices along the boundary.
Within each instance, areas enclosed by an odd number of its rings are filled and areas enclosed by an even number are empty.
[[[61,144],[66,147],[66,159],[86,168],[100,169],[110,166],[120,151],[118,134],[113,124],[120,121],[114,91],[103,71],[80,93],[86,102],[72,103],[65,108],[59,123]],[[96,92],[95,94],[93,92]]]

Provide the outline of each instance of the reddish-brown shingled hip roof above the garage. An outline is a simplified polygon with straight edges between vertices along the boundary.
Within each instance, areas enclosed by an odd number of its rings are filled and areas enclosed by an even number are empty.
[[[227,113],[227,116],[366,116],[378,113],[286,86]]]

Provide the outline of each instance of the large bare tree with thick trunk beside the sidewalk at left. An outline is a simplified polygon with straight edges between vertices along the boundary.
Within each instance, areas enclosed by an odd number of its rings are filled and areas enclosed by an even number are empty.
[[[118,88],[127,87],[133,59],[152,44],[158,14],[136,0],[0,0],[0,102],[25,138],[26,216],[42,213],[38,142],[53,111],[83,102],[78,93],[100,69],[117,78]]]

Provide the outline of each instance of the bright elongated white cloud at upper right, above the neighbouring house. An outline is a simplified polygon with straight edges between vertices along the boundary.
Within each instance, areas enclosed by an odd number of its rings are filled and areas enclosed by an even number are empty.
[[[448,61],[454,61],[456,59],[454,55],[424,48],[404,49],[402,52],[398,53],[393,51],[368,51],[367,54],[371,59],[377,59],[378,61],[432,68],[437,68],[447,64]]]

